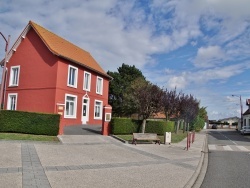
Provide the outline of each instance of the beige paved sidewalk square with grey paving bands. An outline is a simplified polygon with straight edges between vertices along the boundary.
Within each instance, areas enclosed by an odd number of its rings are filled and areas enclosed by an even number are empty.
[[[178,144],[124,144],[102,135],[61,135],[62,143],[0,141],[0,187],[191,187],[205,132]]]

